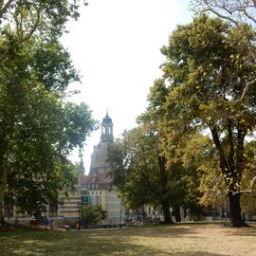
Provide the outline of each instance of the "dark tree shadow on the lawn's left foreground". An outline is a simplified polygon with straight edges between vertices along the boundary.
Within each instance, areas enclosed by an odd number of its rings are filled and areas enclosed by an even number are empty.
[[[119,232],[12,232],[0,235],[1,256],[14,255],[157,255],[157,256],[219,256],[206,251],[164,250],[135,245],[129,236]],[[225,256],[224,254],[221,254]],[[226,255],[228,256],[228,255]]]

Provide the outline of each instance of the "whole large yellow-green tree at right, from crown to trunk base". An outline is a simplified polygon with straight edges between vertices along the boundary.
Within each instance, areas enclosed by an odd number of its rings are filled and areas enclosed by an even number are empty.
[[[247,44],[255,48],[255,32],[247,27]],[[210,131],[229,196],[230,227],[244,226],[241,181],[245,171],[245,139],[255,129],[255,64],[247,48],[238,47],[236,27],[206,15],[178,26],[161,48],[168,94],[163,102],[165,142],[175,134]],[[179,127],[179,129],[178,129]],[[178,131],[174,133],[174,131]]]

